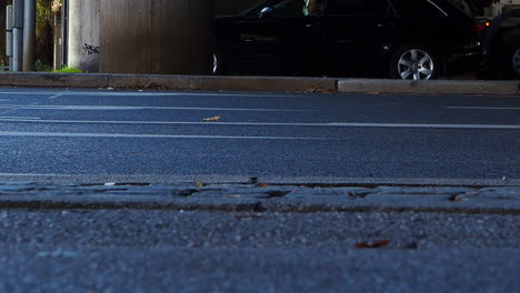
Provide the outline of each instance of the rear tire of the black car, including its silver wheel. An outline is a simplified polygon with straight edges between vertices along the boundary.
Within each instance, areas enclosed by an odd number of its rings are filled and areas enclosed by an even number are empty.
[[[434,79],[441,71],[441,59],[430,46],[410,43],[393,52],[390,77],[402,80]]]

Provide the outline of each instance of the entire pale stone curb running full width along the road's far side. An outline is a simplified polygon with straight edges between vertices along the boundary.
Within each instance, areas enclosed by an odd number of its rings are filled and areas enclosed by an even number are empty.
[[[520,81],[2,72],[0,87],[520,95]]]

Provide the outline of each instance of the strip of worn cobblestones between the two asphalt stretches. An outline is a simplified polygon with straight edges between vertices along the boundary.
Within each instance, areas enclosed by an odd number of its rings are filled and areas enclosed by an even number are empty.
[[[520,188],[0,184],[0,209],[520,214]]]

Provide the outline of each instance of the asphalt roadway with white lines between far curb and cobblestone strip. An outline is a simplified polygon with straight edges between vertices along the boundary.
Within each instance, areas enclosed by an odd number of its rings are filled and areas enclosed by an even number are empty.
[[[0,137],[0,175],[520,179],[518,97],[2,89]]]

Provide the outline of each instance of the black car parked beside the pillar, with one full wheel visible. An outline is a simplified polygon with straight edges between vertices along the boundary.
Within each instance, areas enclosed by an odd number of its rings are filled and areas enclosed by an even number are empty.
[[[216,18],[216,74],[391,77],[472,71],[484,27],[446,0],[268,0]]]

